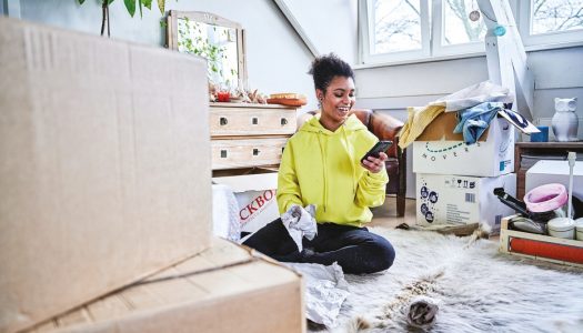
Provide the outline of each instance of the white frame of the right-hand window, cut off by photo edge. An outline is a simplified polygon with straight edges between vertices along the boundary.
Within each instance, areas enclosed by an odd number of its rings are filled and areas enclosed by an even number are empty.
[[[522,42],[526,50],[542,50],[563,48],[583,44],[583,29],[573,31],[559,31],[547,33],[531,33],[532,26],[532,0],[516,1],[517,3],[517,26]]]

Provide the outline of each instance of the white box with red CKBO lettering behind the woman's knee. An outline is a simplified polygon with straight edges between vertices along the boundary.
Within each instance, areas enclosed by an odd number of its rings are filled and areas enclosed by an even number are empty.
[[[212,181],[233,190],[239,203],[241,231],[255,232],[280,216],[275,199],[277,172],[215,176]]]

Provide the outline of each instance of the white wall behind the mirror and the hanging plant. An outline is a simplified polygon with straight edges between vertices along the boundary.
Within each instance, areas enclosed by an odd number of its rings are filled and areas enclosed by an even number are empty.
[[[11,0],[18,1],[18,0]],[[66,29],[99,34],[101,1],[86,0],[20,0],[20,16]],[[316,108],[313,82],[308,74],[313,57],[300,37],[271,0],[167,0],[165,10],[207,11],[243,26],[247,33],[247,61],[250,88],[270,94],[278,92],[303,93],[309,104]],[[157,1],[152,10],[144,9],[143,18],[137,10],[131,18],[122,0],[110,7],[111,37],[151,46],[165,44],[162,14]]]

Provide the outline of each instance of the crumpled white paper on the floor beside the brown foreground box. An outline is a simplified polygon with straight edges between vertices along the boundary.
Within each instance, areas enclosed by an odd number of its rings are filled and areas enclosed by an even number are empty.
[[[314,263],[284,263],[303,275],[305,316],[314,323],[333,327],[342,303],[350,294],[342,268]]]

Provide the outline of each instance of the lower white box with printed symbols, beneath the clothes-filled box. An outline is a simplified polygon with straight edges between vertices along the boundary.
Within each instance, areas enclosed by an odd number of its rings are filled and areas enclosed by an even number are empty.
[[[516,174],[466,176],[416,174],[416,224],[489,224],[492,234],[500,221],[514,211],[494,195],[495,188],[516,193]]]

